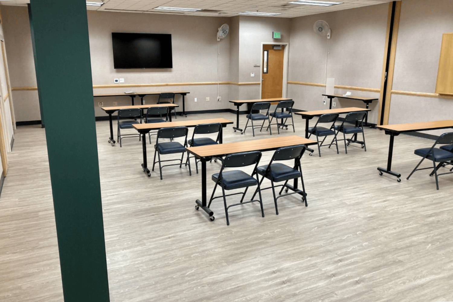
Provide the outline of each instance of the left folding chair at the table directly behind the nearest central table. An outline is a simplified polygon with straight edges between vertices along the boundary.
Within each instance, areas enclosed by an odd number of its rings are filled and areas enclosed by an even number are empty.
[[[181,168],[183,164],[183,158],[184,158],[184,153],[186,153],[186,147],[187,147],[187,134],[188,134],[188,128],[187,127],[166,127],[166,128],[160,128],[159,131],[157,131],[157,138],[156,138],[156,144],[154,145],[155,151],[154,151],[154,162],[153,162],[153,171],[154,171],[154,165],[156,164],[156,154],[158,155],[159,158],[159,171],[160,171],[160,179],[162,180],[162,168],[167,167],[167,166],[177,166],[179,165],[179,168]],[[170,142],[159,142],[159,139],[175,139],[178,137],[184,137],[184,144],[181,144],[179,142],[175,141],[170,141]],[[182,153],[183,155],[181,156],[181,159],[167,159],[167,160],[160,160],[160,155],[164,154],[174,154],[174,153]],[[162,162],[171,162],[174,160],[179,160],[180,163],[173,163],[169,165],[164,165],[162,166]],[[189,166],[189,175],[192,175],[192,172],[190,170],[190,162],[184,163],[184,165]]]

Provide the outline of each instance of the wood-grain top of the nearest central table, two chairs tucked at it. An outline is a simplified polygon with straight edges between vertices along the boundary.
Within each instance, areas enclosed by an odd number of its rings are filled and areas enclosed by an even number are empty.
[[[224,156],[237,152],[276,150],[280,147],[299,144],[313,145],[317,144],[317,142],[311,139],[305,139],[298,135],[291,135],[271,137],[268,139],[246,140],[235,143],[188,147],[186,149],[189,151],[189,153],[192,153],[197,158],[209,158],[213,156]]]

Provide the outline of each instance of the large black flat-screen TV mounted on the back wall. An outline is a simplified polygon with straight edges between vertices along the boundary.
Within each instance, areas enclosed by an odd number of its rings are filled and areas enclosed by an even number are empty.
[[[171,34],[112,33],[113,67],[173,68]]]

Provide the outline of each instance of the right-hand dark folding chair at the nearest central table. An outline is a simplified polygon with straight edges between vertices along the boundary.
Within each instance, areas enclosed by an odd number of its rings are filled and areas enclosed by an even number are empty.
[[[307,147],[305,145],[295,145],[295,146],[288,146],[288,147],[282,147],[279,148],[275,151],[274,155],[272,156],[272,159],[270,160],[269,164],[260,166],[257,168],[258,174],[260,174],[261,180],[260,180],[260,186],[261,183],[263,182],[264,178],[267,178],[270,180],[271,186],[267,188],[260,188],[261,191],[267,190],[272,188],[272,193],[274,195],[274,203],[275,203],[275,214],[279,215],[279,210],[277,208],[277,199],[280,197],[284,197],[287,195],[291,194],[300,194],[302,195],[302,201],[305,201],[305,206],[308,206],[307,203],[307,193],[305,192],[305,186],[304,186],[304,178],[302,177],[302,168],[300,166],[300,158],[302,155],[304,155],[305,150]],[[294,165],[292,167],[289,167],[283,163],[274,163],[276,161],[285,161],[285,160],[291,160],[294,159]],[[291,179],[296,179],[300,177],[300,182],[302,183],[302,190],[299,190],[298,188],[294,188],[290,185],[287,185],[288,181]],[[275,185],[275,182],[283,182],[284,184],[282,185]],[[275,196],[275,187],[282,187],[279,196]],[[286,194],[281,195],[283,190],[285,189]],[[291,189],[294,192],[288,193],[288,190]],[[255,194],[258,192],[258,189],[255,190]],[[255,197],[255,194],[253,194],[252,199]]]

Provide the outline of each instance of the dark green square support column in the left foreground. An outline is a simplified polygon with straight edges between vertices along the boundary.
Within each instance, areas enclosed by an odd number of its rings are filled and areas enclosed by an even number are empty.
[[[31,0],[65,302],[108,302],[85,0]]]

